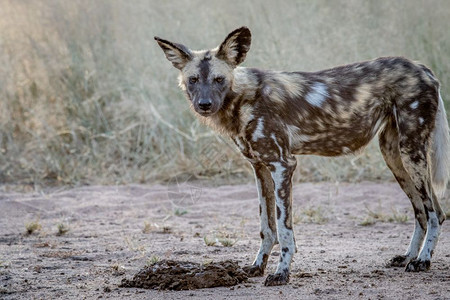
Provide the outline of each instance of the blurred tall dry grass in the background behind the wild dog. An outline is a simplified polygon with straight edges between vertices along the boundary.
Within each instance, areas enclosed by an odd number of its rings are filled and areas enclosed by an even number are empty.
[[[196,121],[155,35],[203,49],[246,25],[244,65],[277,70],[401,55],[431,67],[449,100],[449,20],[447,0],[2,0],[0,183],[252,180],[230,141]],[[298,160],[295,181],[392,179],[376,143]]]

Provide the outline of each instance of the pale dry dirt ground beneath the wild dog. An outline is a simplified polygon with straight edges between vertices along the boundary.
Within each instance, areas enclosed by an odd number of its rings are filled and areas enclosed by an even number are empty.
[[[119,284],[163,259],[251,262],[259,248],[254,185],[2,190],[1,299],[450,299],[450,222],[429,272],[385,267],[406,250],[414,224],[395,183],[296,185],[290,284],[264,287],[257,277],[190,291]],[[38,229],[26,234],[33,222]],[[276,246],[268,272],[278,255]]]

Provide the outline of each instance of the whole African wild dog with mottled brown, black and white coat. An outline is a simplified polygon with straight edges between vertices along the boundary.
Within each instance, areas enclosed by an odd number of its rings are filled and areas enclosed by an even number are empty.
[[[289,281],[294,154],[354,153],[378,133],[383,157],[411,200],[415,229],[408,250],[389,265],[424,271],[445,219],[436,194],[448,178],[448,125],[439,83],[424,65],[384,57],[319,72],[238,67],[250,48],[246,27],[212,50],[192,51],[155,37],[181,71],[180,86],[198,117],[236,143],[252,164],[261,246],[245,267],[261,276],[274,244],[280,261],[265,285]]]

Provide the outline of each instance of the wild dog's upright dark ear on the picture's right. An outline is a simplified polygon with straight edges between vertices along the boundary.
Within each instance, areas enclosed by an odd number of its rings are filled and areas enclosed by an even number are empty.
[[[217,58],[226,61],[236,67],[242,63],[250,50],[252,35],[247,27],[241,27],[231,32],[219,46]]]

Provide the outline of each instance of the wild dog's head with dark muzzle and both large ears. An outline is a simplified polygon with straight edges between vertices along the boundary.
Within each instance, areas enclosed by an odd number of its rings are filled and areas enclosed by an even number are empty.
[[[250,49],[247,27],[231,32],[219,47],[192,51],[184,45],[155,37],[167,59],[181,71],[180,86],[194,110],[210,116],[220,110],[233,85],[233,69],[242,63]]]

